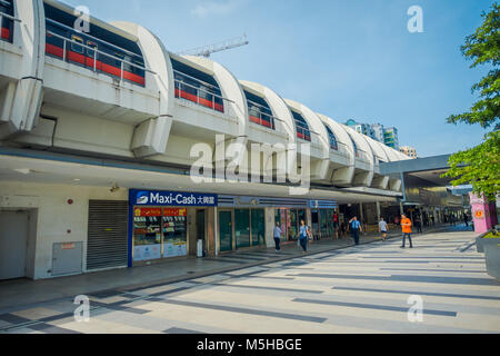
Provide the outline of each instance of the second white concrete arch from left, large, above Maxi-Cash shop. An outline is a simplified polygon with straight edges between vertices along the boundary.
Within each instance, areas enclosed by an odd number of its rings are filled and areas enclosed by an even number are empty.
[[[137,157],[162,155],[166,152],[172,128],[174,101],[170,57],[159,38],[142,26],[124,21],[114,21],[111,24],[138,39],[137,43],[142,52],[144,66],[154,72],[154,75],[146,72],[147,86],[159,92],[158,117],[147,120],[136,128],[131,150]]]

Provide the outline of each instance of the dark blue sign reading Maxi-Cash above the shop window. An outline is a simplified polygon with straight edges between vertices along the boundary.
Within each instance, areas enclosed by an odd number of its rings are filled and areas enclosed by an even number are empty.
[[[161,207],[217,207],[218,196],[213,194],[160,191],[160,190],[129,190],[129,201],[133,206]]]

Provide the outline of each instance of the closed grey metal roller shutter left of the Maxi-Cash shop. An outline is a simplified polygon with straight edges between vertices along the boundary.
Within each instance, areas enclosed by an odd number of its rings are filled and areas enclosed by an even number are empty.
[[[127,266],[128,209],[128,201],[89,201],[87,270]]]

